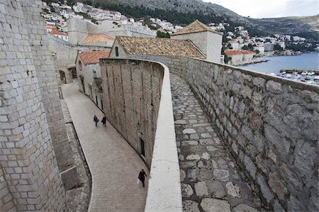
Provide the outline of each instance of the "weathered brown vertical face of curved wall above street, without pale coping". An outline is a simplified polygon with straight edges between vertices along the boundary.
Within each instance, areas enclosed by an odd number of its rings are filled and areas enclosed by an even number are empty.
[[[162,66],[152,62],[100,60],[105,114],[114,128],[140,155],[145,141],[145,162],[150,167],[154,146]]]

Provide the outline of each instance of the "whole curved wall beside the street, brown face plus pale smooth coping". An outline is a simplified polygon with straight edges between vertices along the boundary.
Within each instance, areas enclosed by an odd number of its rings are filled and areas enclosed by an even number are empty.
[[[169,70],[141,60],[102,59],[105,115],[150,167],[145,211],[182,211]]]

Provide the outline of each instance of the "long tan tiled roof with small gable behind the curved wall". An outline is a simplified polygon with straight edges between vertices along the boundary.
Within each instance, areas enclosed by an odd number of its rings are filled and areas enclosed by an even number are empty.
[[[206,59],[206,55],[198,50],[190,40],[116,36],[110,57],[129,58],[130,55],[163,55]]]

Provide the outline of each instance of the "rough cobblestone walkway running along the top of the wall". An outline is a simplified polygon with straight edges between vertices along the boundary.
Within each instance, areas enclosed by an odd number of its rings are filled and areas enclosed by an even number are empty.
[[[171,74],[184,211],[259,211],[260,200],[236,171],[186,82]]]

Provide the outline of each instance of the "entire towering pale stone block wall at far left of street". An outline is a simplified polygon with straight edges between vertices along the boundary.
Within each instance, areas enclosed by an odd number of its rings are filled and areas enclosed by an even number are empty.
[[[0,211],[63,211],[79,179],[41,11],[0,2]]]

